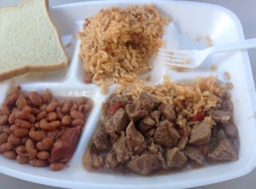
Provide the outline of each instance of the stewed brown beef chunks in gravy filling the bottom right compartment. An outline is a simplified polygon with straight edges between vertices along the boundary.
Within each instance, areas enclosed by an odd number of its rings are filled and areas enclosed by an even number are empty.
[[[160,102],[145,91],[133,100],[130,95],[112,95],[102,109],[103,121],[92,136],[84,165],[88,169],[154,175],[236,161],[238,132],[228,105],[230,101],[222,101],[208,111],[185,116],[180,107]]]

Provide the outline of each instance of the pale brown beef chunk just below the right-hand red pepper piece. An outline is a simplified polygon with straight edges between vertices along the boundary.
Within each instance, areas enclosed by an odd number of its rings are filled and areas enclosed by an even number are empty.
[[[212,126],[209,123],[196,124],[191,130],[189,144],[200,146],[209,142],[212,134],[211,128]]]

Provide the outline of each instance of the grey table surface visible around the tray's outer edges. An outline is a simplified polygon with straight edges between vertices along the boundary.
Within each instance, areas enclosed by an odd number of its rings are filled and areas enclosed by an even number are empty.
[[[56,5],[61,3],[72,3],[72,2],[83,2],[84,0],[49,0],[49,5]],[[244,35],[245,38],[253,38],[256,37],[256,0],[190,0],[195,2],[202,2],[202,3],[212,3],[212,4],[218,4],[220,6],[223,6],[227,9],[230,9],[232,12],[234,12],[239,20],[241,21],[241,25],[243,26]],[[0,6],[3,5],[12,5],[15,3],[20,2],[20,0],[0,0]],[[254,83],[256,81],[256,49],[250,49],[248,50],[249,58],[251,61],[252,66],[252,72],[253,72],[253,78]],[[213,189],[213,188],[232,188],[232,189],[240,189],[240,188],[255,188],[254,185],[256,185],[256,169],[253,169],[253,171],[245,176],[242,176],[240,178],[234,179],[234,180],[228,180],[224,181],[218,184],[212,184],[208,186],[201,186],[201,187],[195,187],[195,189]],[[44,185],[38,185],[36,183],[27,182],[24,180],[19,180],[13,177],[10,177],[8,175],[3,175],[0,173],[0,183],[1,188],[19,188],[19,189],[32,189],[32,188],[45,188],[45,189],[57,189],[58,187],[52,187],[52,186],[44,186]]]

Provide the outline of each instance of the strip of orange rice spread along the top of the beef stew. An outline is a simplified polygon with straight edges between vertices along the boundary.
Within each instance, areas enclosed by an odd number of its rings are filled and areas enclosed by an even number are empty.
[[[131,95],[135,99],[143,90],[156,100],[171,103],[177,112],[177,124],[184,127],[190,117],[199,112],[218,109],[224,101],[230,100],[227,84],[218,82],[217,77],[196,77],[192,83],[174,83],[165,77],[164,83],[146,85],[143,81],[129,86],[121,86],[115,93],[119,96]],[[209,118],[208,122],[212,123]]]

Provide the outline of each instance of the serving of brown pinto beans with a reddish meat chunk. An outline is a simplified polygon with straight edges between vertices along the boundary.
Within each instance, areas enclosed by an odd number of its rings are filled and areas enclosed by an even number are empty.
[[[56,100],[49,89],[10,91],[0,110],[0,153],[18,163],[61,170],[72,158],[93,103],[87,97]]]

